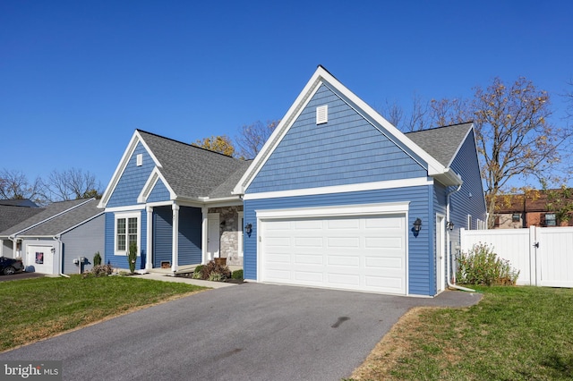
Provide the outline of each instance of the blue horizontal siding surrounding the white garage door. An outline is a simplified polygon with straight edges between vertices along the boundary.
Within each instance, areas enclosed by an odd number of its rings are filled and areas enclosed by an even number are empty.
[[[418,295],[433,295],[435,282],[432,280],[434,255],[432,237],[434,234],[430,214],[432,213],[432,186],[406,187],[392,190],[367,190],[347,193],[332,193],[316,196],[300,196],[277,199],[246,199],[244,201],[244,223],[252,224],[252,234],[244,235],[244,277],[257,278],[257,219],[255,210],[293,207],[326,207],[342,205],[371,204],[381,202],[409,201],[407,221],[408,242],[408,292]],[[417,237],[412,232],[415,219],[423,221],[423,229]]]

